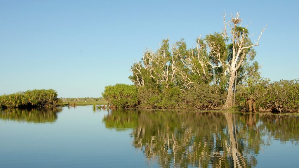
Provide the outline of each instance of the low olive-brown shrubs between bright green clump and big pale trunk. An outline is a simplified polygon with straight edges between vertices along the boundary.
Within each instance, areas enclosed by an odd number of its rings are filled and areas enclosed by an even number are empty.
[[[225,103],[226,94],[219,86],[208,84],[194,85],[189,91],[182,91],[175,87],[165,88],[163,91],[139,87],[140,104],[138,107],[144,109],[219,109]]]

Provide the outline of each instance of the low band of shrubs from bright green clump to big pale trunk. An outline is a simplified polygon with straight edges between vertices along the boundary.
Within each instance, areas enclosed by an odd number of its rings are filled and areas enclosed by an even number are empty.
[[[173,87],[161,92],[155,88],[116,84],[106,86],[102,95],[112,107],[118,108],[211,110],[219,109],[225,102],[225,91],[215,85],[196,85],[186,92]]]

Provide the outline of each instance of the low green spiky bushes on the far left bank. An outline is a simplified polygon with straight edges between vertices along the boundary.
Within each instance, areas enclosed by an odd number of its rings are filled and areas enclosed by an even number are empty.
[[[0,96],[1,108],[52,107],[59,106],[60,102],[53,89],[34,89]]]

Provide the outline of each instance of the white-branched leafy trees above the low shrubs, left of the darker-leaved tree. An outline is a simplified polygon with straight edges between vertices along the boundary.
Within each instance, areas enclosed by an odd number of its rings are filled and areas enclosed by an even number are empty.
[[[136,86],[149,86],[155,83],[163,88],[177,87],[190,90],[194,83],[209,83],[213,77],[207,54],[207,47],[200,38],[195,48],[187,48],[183,39],[170,47],[169,40],[162,40],[156,52],[147,50],[142,61],[135,62],[132,76]]]

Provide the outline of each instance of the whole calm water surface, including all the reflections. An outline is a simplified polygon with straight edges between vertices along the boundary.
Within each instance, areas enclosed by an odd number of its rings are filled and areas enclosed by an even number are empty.
[[[299,167],[299,117],[97,110],[0,113],[0,167]]]

